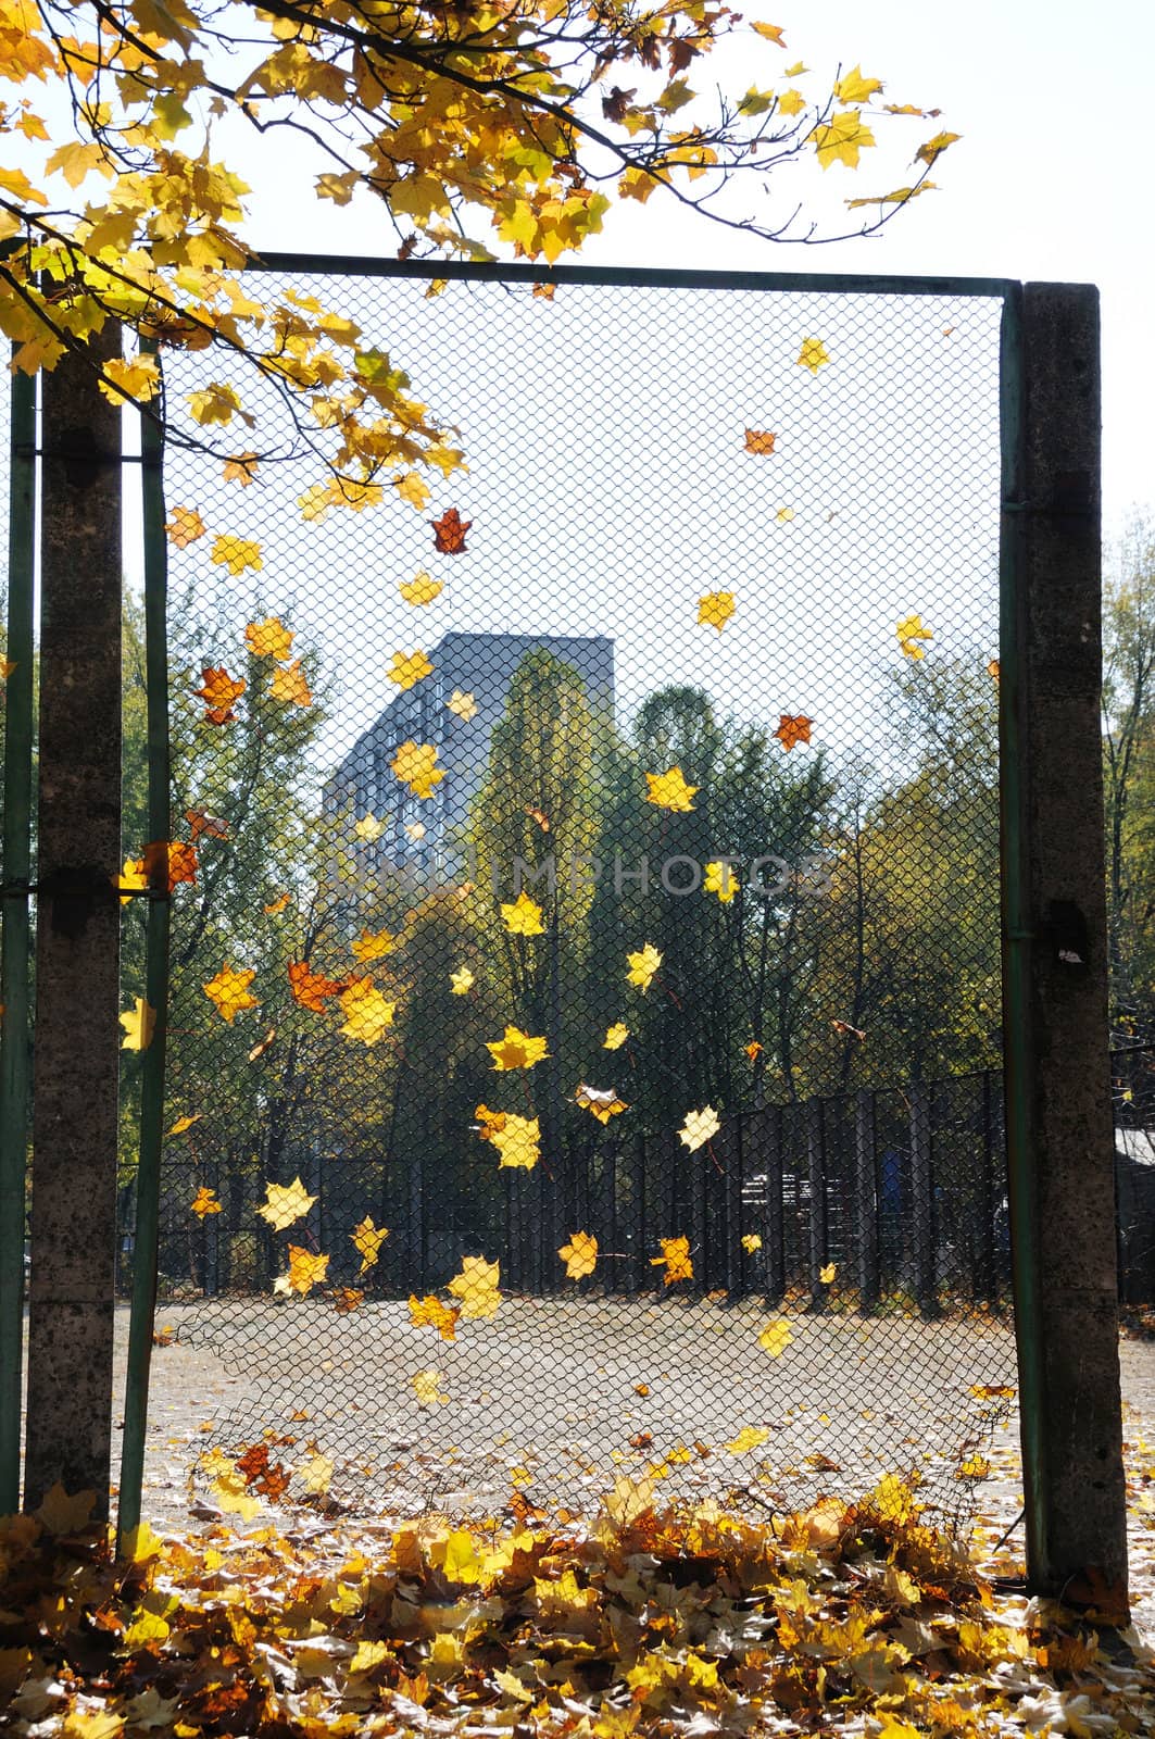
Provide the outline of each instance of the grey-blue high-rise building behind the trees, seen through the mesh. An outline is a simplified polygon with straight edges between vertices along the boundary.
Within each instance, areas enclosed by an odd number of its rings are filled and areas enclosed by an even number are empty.
[[[365,882],[390,868],[438,880],[463,870],[470,805],[485,777],[492,729],[513,673],[537,649],[576,670],[593,710],[612,716],[612,640],[444,635],[430,652],[433,673],[390,701],[325,783],[324,814],[348,821],[348,845]],[[414,796],[390,765],[405,743],[433,746],[445,772],[426,798]]]

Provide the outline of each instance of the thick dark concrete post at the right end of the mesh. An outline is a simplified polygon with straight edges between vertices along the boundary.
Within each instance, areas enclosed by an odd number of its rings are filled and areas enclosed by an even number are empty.
[[[1021,499],[1011,729],[1018,736],[1021,949],[1007,1021],[1025,1021],[1009,1097],[1028,1581],[1072,1605],[1125,1612],[1115,1184],[1106,1017],[1099,737],[1099,306],[1089,285],[1031,283],[1021,313]],[[1004,737],[1004,746],[1005,746]],[[1014,871],[1011,871],[1014,873]],[[1007,1029],[1007,1061],[1016,1036]],[[1009,1103],[1009,1123],[1016,1111]],[[1014,1144],[1012,1144],[1014,1153]],[[1026,1221],[1033,1219],[1033,1224]],[[1030,1294],[1030,1276],[1028,1276]],[[1030,1320],[1033,1316],[1033,1322]],[[1033,1341],[1026,1346],[1023,1336]],[[1033,1362],[1033,1363],[1031,1363]],[[1030,1393],[1028,1393],[1030,1389]],[[1026,1412],[1037,1409],[1035,1421]]]

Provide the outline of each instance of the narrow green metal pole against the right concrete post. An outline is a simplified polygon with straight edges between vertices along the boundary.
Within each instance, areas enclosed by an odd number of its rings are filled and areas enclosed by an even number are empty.
[[[1028,1582],[1047,1562],[1044,1344],[1033,1143],[1030,897],[1026,864],[1026,704],[1021,546],[1025,489],[1023,289],[1007,292],[1000,330],[1002,525],[998,539],[998,758],[1002,882],[1002,1033],[1007,1195]]]

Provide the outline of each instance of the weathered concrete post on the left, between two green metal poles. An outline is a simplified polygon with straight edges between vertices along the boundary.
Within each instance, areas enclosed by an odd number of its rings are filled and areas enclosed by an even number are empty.
[[[118,329],[92,346],[120,355]],[[120,410],[43,377],[37,1043],[24,1508],[108,1515],[120,1054]]]

